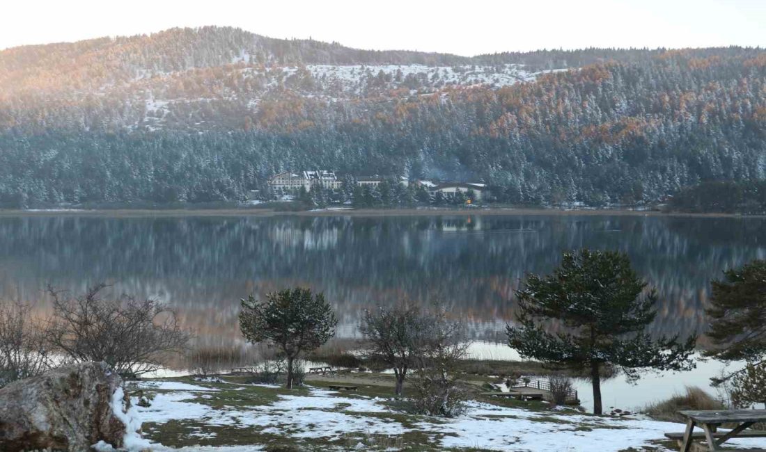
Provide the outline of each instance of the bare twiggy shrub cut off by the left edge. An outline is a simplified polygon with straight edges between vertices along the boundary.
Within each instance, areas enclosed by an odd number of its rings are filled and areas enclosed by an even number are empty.
[[[0,386],[49,369],[51,351],[42,323],[28,304],[0,301]]]

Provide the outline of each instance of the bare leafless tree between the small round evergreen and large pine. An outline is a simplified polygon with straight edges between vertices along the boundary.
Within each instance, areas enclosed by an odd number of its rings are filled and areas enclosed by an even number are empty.
[[[421,307],[400,303],[365,311],[359,326],[369,343],[369,354],[382,359],[394,369],[396,395],[404,389],[404,378],[423,353],[424,313]]]

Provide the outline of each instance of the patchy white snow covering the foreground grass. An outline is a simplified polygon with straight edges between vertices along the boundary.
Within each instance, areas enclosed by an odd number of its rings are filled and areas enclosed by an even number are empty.
[[[155,382],[142,382],[144,389],[162,388]],[[164,383],[164,382],[163,382]],[[186,385],[191,386],[191,385]],[[165,386],[167,387],[167,386]],[[298,438],[337,438],[348,433],[401,435],[422,431],[441,436],[441,447],[477,447],[489,450],[568,450],[617,452],[632,447],[654,447],[666,431],[683,431],[683,425],[641,419],[594,417],[538,412],[470,402],[465,415],[453,419],[413,417],[414,428],[396,421],[385,399],[338,395],[324,389],[309,389],[309,395],[279,395],[272,405],[248,408],[212,409],[191,402],[199,395],[188,391],[158,393],[150,408],[136,407],[146,422],[162,424],[172,419],[194,419],[208,425],[258,427],[264,433],[289,434]],[[375,413],[375,415],[369,415]],[[392,416],[387,417],[390,413]],[[420,421],[417,421],[420,419]],[[766,440],[732,441],[739,447],[766,447]],[[158,449],[155,450],[167,450]],[[185,448],[188,452],[206,450],[240,452],[260,450],[260,446]]]

